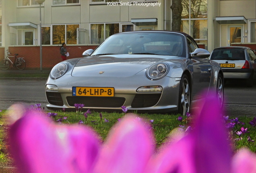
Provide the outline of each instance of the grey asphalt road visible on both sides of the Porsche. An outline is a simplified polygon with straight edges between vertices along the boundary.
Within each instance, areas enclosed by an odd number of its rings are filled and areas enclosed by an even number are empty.
[[[46,80],[0,80],[0,109],[8,109],[14,103],[27,106],[41,103],[45,107],[45,82]],[[227,115],[256,117],[256,84],[248,88],[243,82],[227,82],[224,91],[224,109]]]

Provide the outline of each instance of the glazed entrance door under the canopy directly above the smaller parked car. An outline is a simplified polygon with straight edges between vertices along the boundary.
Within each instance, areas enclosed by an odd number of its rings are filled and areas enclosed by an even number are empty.
[[[227,35],[227,45],[231,46],[231,43],[244,42],[244,30],[243,25],[229,25]]]

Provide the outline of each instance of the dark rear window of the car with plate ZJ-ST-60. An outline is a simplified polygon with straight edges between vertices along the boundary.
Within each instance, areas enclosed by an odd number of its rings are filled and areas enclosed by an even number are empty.
[[[244,49],[219,48],[213,50],[211,60],[245,60]]]

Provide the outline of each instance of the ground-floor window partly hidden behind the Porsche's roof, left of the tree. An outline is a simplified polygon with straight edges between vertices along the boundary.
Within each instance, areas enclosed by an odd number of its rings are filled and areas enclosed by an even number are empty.
[[[91,24],[91,44],[100,44],[109,36],[118,32],[133,31],[134,24],[105,23]]]

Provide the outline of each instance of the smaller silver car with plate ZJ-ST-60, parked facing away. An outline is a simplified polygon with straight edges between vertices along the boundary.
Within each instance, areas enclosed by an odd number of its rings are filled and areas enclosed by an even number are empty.
[[[225,80],[245,80],[252,87],[256,78],[256,55],[254,51],[243,46],[215,48],[210,56],[223,69]]]

